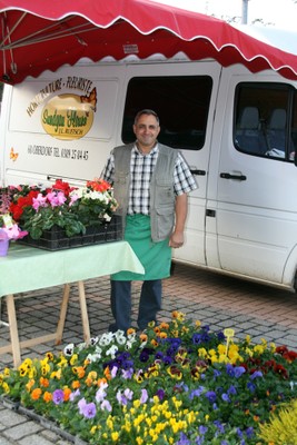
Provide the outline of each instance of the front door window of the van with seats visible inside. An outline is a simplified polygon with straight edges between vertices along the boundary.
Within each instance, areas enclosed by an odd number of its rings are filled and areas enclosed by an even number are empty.
[[[248,155],[293,161],[297,147],[295,89],[283,83],[240,83],[236,90],[234,144]]]

